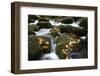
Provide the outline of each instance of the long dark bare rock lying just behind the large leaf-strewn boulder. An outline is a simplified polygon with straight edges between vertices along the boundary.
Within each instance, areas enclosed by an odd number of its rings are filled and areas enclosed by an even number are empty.
[[[76,34],[78,36],[87,35],[87,29],[85,29],[85,28],[73,27],[73,26],[70,26],[70,25],[66,25],[66,26],[60,25],[59,29],[60,29],[61,33],[64,33],[64,32],[66,32],[66,33],[74,33],[74,34]]]

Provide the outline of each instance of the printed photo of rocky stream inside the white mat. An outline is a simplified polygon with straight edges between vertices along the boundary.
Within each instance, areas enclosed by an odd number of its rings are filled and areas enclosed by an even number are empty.
[[[34,60],[34,58],[40,60],[65,59],[64,56],[68,48],[70,50],[74,48],[70,52],[70,58],[87,57],[87,18],[32,15],[29,16],[28,23],[30,60]],[[76,38],[81,40],[79,47],[71,45],[74,44],[71,41],[74,40],[74,34],[77,35]],[[39,36],[38,44],[35,42],[35,38]],[[31,47],[34,45],[37,47]]]

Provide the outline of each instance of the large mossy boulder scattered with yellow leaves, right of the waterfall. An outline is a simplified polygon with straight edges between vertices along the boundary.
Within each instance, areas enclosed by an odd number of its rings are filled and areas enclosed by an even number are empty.
[[[56,39],[56,54],[60,59],[69,59],[70,52],[75,51],[80,38],[72,33],[63,33]]]

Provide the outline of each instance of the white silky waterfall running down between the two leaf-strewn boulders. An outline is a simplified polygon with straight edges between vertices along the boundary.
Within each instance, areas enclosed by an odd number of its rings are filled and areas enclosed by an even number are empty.
[[[41,59],[42,60],[57,60],[59,59],[58,56],[55,53],[55,49],[56,49],[56,43],[55,43],[55,39],[50,35],[50,30],[51,29],[41,29],[40,31],[36,32],[37,36],[44,36],[44,37],[48,37],[50,38],[50,42],[51,42],[51,52],[44,54]]]

